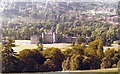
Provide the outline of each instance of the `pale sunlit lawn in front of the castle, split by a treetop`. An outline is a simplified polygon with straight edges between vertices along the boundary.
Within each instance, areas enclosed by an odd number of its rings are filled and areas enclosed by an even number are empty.
[[[23,49],[34,49],[37,48],[36,44],[30,44],[30,40],[15,40],[16,47],[13,47],[15,52],[20,52]],[[55,47],[60,48],[62,51],[71,48],[69,43],[54,43],[54,44],[43,44],[44,49]]]

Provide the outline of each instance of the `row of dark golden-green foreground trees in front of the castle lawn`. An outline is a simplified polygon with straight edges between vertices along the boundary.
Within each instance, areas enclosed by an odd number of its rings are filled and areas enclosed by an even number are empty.
[[[66,70],[92,70],[117,68],[120,63],[119,51],[108,49],[103,52],[101,39],[75,44],[70,49],[46,48],[38,44],[36,49],[14,52],[14,40],[7,39],[2,49],[2,72],[49,72]]]

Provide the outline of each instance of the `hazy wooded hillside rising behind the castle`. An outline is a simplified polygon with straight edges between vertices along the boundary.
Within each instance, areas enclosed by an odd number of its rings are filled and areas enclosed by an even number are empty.
[[[42,5],[42,8],[37,7]],[[104,39],[104,45],[110,45],[120,39],[119,25],[103,23],[103,17],[112,15],[92,15],[89,10],[117,8],[115,3],[67,2],[58,3],[13,3],[3,11],[3,37],[15,40],[28,40],[34,34],[52,30],[61,36],[88,36],[91,40]],[[112,9],[112,10],[113,10]],[[88,11],[88,12],[87,12]],[[89,13],[89,14],[88,14]],[[114,16],[114,15],[113,15]],[[99,19],[99,20],[97,20]]]

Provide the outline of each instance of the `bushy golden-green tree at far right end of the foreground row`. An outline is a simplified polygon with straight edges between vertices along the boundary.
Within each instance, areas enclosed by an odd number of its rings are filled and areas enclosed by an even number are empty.
[[[118,59],[120,58],[120,55],[118,54],[115,49],[107,49],[105,51],[105,57],[102,59],[101,68],[112,68],[117,67]]]

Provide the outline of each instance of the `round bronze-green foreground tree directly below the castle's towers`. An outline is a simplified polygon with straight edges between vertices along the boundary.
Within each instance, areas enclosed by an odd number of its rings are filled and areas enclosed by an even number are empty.
[[[62,62],[64,55],[58,48],[47,48],[43,51],[45,58],[47,59],[44,63],[47,71],[61,71]]]

